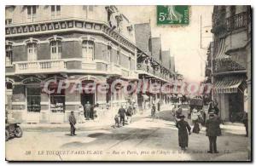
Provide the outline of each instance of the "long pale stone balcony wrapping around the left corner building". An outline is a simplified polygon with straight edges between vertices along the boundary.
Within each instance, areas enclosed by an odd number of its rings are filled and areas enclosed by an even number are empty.
[[[122,76],[122,69],[116,64],[103,60],[83,61],[82,59],[35,60],[14,62],[15,74],[79,72]]]

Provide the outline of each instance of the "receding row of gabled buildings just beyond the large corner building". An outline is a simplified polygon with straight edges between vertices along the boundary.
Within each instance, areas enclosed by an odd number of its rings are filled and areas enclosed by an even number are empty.
[[[141,93],[137,94],[137,104],[140,109],[148,109],[153,103],[160,102],[166,105],[171,102],[173,89],[172,83],[176,79],[174,57],[170,50],[161,49],[161,38],[151,36],[150,23],[136,24],[135,43],[137,45],[137,73],[139,80],[143,83]],[[148,85],[158,83],[161,87],[166,86],[165,92],[153,92]]]

